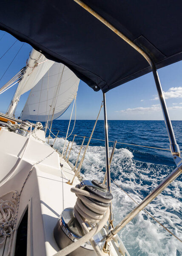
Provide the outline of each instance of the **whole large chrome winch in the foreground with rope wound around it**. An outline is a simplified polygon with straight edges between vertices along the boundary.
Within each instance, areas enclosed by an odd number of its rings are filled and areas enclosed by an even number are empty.
[[[71,192],[77,195],[77,202],[74,208],[63,210],[54,227],[54,238],[60,249],[63,249],[88,234],[106,217],[102,228],[90,241],[80,244],[67,254],[95,256],[93,244],[97,250],[102,250],[105,244],[106,232],[103,226],[108,220],[108,209],[113,196],[107,191],[107,186],[97,180],[83,180],[75,188],[71,188]]]

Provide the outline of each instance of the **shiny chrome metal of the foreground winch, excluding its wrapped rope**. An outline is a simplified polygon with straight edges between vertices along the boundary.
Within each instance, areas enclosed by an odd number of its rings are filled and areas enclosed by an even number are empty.
[[[110,192],[107,191],[107,187],[98,182],[97,180],[83,180],[80,185],[79,189],[87,190],[89,192],[92,192],[98,196],[98,198],[110,198],[112,199],[113,196]],[[93,202],[97,202],[97,204],[104,205],[105,207],[108,207],[110,204],[102,203],[100,201],[97,201],[95,199],[89,198]],[[90,223],[88,224],[87,221],[85,221],[85,225],[88,227],[88,229],[91,229],[95,226],[95,224]],[[74,209],[73,208],[66,208],[63,210],[62,214],[60,215],[59,220],[57,221],[56,226],[54,227],[54,238],[60,247],[60,249],[63,249],[67,247],[68,245],[76,242],[79,240],[82,236],[84,236],[85,233],[82,230],[82,227],[80,226],[80,223],[77,221],[77,218],[74,216]],[[103,249],[105,240],[106,240],[106,231],[104,228],[102,228],[95,236],[93,237],[95,243],[100,248],[100,250]],[[74,250],[73,252],[69,253],[68,256],[80,256],[80,255],[87,255],[87,256],[95,256],[95,251],[90,244],[89,241],[85,242],[85,244],[82,244],[79,248]]]

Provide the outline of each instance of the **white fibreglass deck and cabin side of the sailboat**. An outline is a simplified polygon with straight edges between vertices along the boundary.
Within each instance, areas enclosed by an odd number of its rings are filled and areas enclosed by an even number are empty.
[[[38,131],[37,136],[45,140],[43,131]],[[76,202],[76,195],[70,191],[71,185],[66,183],[72,180],[74,172],[65,160],[62,160],[63,168],[60,167],[60,155],[48,144],[32,136],[28,141],[28,137],[0,130],[1,196],[12,190],[20,192],[32,165],[39,160],[43,161],[33,167],[20,197],[16,230],[28,207],[27,255],[52,256],[60,250],[54,240],[54,227],[63,209],[74,207]],[[76,178],[73,186],[77,183]],[[0,256],[6,255],[9,240],[8,237],[4,253],[0,249]],[[15,243],[16,231],[11,256]],[[113,250],[111,255],[117,255],[116,251]]]

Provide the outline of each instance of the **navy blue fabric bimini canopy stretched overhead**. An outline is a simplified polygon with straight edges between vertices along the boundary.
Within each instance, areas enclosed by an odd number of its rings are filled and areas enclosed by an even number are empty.
[[[83,0],[147,52],[157,68],[182,59],[181,0]],[[0,29],[103,92],[151,71],[125,41],[73,0],[3,0]]]

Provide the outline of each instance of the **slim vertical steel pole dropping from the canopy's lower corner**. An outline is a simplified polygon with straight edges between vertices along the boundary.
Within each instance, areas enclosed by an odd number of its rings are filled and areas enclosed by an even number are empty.
[[[105,160],[106,160],[107,187],[108,187],[108,191],[111,192],[111,174],[110,174],[110,164],[109,164],[109,143],[108,143],[108,120],[107,120],[107,112],[106,112],[105,93],[103,93],[103,102],[104,102]]]

